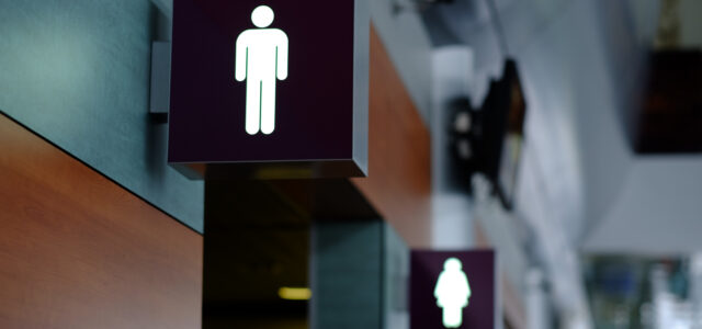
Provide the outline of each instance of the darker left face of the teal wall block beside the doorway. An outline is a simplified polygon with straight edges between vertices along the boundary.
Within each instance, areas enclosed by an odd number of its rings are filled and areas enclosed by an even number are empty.
[[[310,328],[383,328],[383,222],[316,223]]]

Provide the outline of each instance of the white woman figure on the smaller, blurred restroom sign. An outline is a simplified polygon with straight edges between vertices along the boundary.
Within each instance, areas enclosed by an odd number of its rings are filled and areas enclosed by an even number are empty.
[[[463,264],[455,258],[443,263],[443,272],[439,274],[434,297],[437,305],[443,308],[443,326],[458,328],[463,324],[463,308],[468,306],[471,285],[462,270]]]

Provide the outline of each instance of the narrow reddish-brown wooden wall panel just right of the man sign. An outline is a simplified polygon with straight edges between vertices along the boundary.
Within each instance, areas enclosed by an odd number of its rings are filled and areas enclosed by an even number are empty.
[[[374,29],[370,75],[369,177],[352,182],[410,247],[429,247],[429,131]]]

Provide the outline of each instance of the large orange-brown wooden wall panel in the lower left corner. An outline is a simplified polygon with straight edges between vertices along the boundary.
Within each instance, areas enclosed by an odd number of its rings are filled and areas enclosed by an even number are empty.
[[[0,328],[200,328],[202,247],[0,114]]]

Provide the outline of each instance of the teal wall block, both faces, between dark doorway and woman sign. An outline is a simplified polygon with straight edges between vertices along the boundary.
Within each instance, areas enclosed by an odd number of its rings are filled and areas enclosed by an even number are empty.
[[[310,322],[407,329],[409,249],[384,220],[313,225]]]

